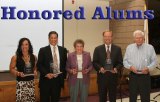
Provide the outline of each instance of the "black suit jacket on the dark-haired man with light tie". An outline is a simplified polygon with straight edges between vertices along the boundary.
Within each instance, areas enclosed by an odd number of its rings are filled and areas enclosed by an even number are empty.
[[[64,79],[66,78],[66,60],[67,60],[67,50],[61,46],[58,46],[59,57],[60,57],[60,71],[62,74],[59,74],[61,87],[64,87]],[[52,52],[50,46],[46,46],[40,49],[38,54],[37,67],[40,72],[40,85],[48,79],[45,76],[48,73],[51,73],[50,63],[53,61]],[[51,82],[51,81],[50,81]]]

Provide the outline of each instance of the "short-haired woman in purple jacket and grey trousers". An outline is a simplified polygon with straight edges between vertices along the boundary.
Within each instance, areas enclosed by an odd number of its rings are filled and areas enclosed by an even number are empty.
[[[92,70],[91,56],[84,51],[84,41],[77,39],[74,42],[75,51],[69,53],[66,70],[69,73],[71,102],[77,102],[80,93],[80,102],[87,102],[89,88],[89,72]]]

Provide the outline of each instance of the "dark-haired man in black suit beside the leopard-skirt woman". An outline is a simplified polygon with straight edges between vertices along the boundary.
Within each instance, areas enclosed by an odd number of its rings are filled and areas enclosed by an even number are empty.
[[[50,44],[40,49],[37,61],[40,102],[58,102],[66,77],[67,50],[57,45],[57,32],[51,31],[48,39]]]

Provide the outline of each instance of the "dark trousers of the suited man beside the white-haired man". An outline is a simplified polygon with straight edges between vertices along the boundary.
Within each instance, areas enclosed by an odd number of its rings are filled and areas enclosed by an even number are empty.
[[[117,91],[117,74],[107,73],[102,75],[98,81],[99,102],[107,101],[107,93],[109,102],[116,102]]]

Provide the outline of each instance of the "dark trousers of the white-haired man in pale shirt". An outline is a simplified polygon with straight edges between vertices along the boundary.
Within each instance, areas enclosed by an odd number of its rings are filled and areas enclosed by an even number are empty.
[[[140,94],[141,102],[150,102],[151,81],[150,75],[134,74],[129,76],[129,98],[130,102],[137,102],[137,95]]]

